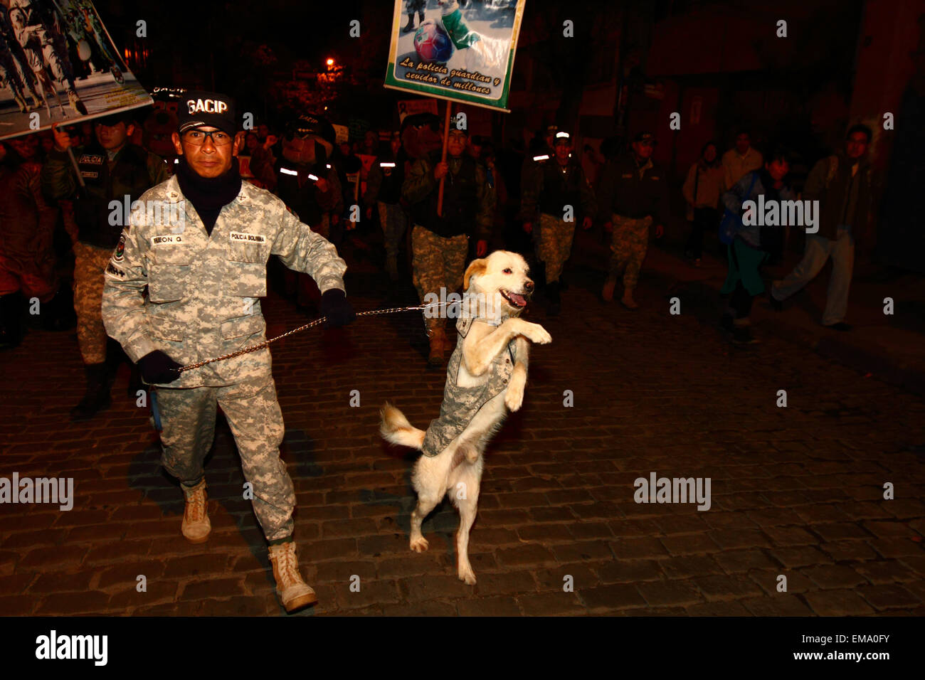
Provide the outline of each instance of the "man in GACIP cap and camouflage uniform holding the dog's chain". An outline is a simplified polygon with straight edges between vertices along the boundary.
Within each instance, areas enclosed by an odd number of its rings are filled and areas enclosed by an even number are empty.
[[[132,214],[106,267],[103,319],[156,388],[161,463],[183,488],[181,530],[192,542],[211,530],[203,459],[222,407],[270,544],[277,593],[292,612],[317,598],[302,581],[292,538],[295,494],[279,458],[284,427],[270,352],[178,369],[265,340],[260,298],[271,254],[317,281],[329,325],[350,323],[354,314],[344,293],[347,266],[334,246],[271,193],[241,182],[237,127],[227,96],[186,93],[173,135],[177,174],[146,192],[145,209]]]

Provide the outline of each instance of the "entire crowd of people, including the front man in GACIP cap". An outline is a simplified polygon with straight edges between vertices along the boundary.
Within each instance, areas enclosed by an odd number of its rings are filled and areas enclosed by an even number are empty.
[[[343,326],[355,313],[341,254],[381,263],[383,297],[410,279],[427,303],[459,292],[472,258],[504,248],[528,257],[547,314],[559,315],[575,229],[597,225],[610,240],[600,299],[612,303],[621,284],[620,303],[635,310],[650,231],[660,238],[672,224],[666,171],[645,130],[626,149],[607,140],[585,144],[579,157],[573,135],[555,126],[521,153],[496,151],[462,126],[444,139],[440,119],[426,113],[352,142],[311,114],[278,134],[265,124],[240,130],[233,100],[218,93],[186,93],[176,116],[138,118],[117,112],[0,142],[0,345],[19,344],[24,319],[49,331],[76,324],[86,374],[70,412],[77,422],[109,406],[116,368],[129,362],[129,395],[147,389],[158,404],[161,464],[179,480],[181,533],[194,543],[211,531],[203,461],[220,405],[287,611],[316,597],[298,567],[269,352],[232,354],[265,338],[268,278],[329,326]],[[775,308],[832,257],[821,322],[850,328],[854,239],[873,203],[869,143],[870,129],[856,125],[845,149],[810,171],[803,195],[820,203],[819,229],[808,234],[803,261],[773,282]],[[720,324],[734,342],[754,341],[748,317],[765,291],[761,266],[783,244],[781,229],[750,218],[749,202],[794,200],[790,163],[780,146],[759,153],[742,130],[722,157],[716,142],[704,144],[681,189],[690,264],[701,264],[707,234],[724,244],[729,303]],[[142,208],[159,212],[136,211],[142,195]],[[425,315],[434,367],[446,365],[454,345],[446,316]],[[206,361],[220,355],[228,359]]]

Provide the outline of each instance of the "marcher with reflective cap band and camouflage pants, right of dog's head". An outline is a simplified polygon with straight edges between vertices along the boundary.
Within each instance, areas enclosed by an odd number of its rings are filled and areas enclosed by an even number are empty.
[[[596,212],[594,192],[572,150],[569,133],[557,132],[553,160],[539,161],[538,171],[531,173],[530,183],[521,191],[524,231],[532,231],[539,215],[538,252],[546,263],[547,310],[552,316],[561,309],[559,277],[572,253],[575,219],[580,212],[582,228],[590,229]]]

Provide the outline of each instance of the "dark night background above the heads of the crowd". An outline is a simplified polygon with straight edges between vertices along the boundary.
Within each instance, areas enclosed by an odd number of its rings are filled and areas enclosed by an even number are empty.
[[[271,125],[314,109],[341,124],[362,116],[379,130],[397,126],[396,101],[413,96],[382,87],[391,2],[96,5],[149,91],[214,87]],[[493,4],[485,5],[490,11]],[[771,140],[793,148],[798,187],[808,167],[840,143],[849,121],[861,120],[875,132],[870,153],[888,179],[868,250],[920,271],[925,243],[905,197],[921,186],[922,164],[914,159],[925,151],[921,11],[917,2],[863,0],[529,0],[512,112],[468,107],[470,125],[502,144],[553,122],[595,146],[613,134],[654,130],[656,159],[678,186],[704,142],[726,148],[746,126],[759,148]],[[147,21],[146,38],[135,36],[138,19]],[[352,19],[360,21],[360,38],[348,34]],[[561,37],[566,19],[573,39]],[[786,39],[774,36],[778,19],[788,21]],[[338,72],[322,84],[315,78],[328,57]],[[684,130],[669,130],[673,111],[685,118]],[[896,130],[882,135],[886,111]],[[680,212],[680,192],[672,197]],[[796,251],[799,241],[791,244]]]

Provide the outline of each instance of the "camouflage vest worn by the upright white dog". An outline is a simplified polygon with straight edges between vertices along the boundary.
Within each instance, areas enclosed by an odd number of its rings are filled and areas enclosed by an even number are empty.
[[[507,388],[508,380],[511,378],[517,359],[514,340],[508,343],[508,351],[500,352],[488,366],[487,382],[471,388],[457,385],[462,362],[462,340],[474,323],[485,323],[485,319],[462,316],[456,322],[459,338],[447,367],[447,386],[443,390],[440,416],[430,422],[424,436],[424,444],[421,446],[425,456],[436,456],[450,446],[450,442],[469,426],[478,410]]]

